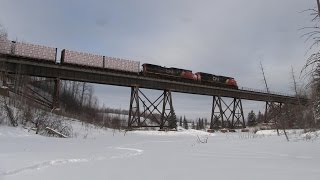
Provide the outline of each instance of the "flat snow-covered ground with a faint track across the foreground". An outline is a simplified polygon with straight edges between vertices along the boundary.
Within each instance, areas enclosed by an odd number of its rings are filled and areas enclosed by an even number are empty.
[[[320,139],[300,132],[119,132],[72,122],[76,137],[0,126],[0,180],[320,179]],[[199,140],[207,143],[200,143]]]

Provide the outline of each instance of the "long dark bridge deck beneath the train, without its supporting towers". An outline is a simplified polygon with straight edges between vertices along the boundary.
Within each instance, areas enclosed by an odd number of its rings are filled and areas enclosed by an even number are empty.
[[[171,80],[145,77],[138,74],[91,69],[72,65],[60,65],[47,61],[39,61],[27,57],[0,54],[0,70],[8,73],[21,73],[31,76],[60,78],[63,80],[83,81],[90,83],[109,84],[116,86],[138,86],[155,90],[171,90],[172,92],[199,94],[207,96],[221,96],[240,98],[254,101],[278,102],[297,104],[296,97],[268,94],[243,89],[228,89],[205,86],[193,83],[184,83]],[[305,104],[307,99],[301,99]]]

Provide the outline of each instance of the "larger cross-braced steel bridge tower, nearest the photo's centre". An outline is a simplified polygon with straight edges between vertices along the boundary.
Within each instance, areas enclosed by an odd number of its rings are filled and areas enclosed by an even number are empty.
[[[172,128],[169,121],[173,112],[170,90],[164,90],[156,100],[152,101],[139,87],[131,87],[128,129],[159,127],[161,130]]]

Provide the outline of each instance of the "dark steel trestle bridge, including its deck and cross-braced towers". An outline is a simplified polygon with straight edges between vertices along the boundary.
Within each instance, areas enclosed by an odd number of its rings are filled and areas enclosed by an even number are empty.
[[[2,80],[4,83],[6,81],[6,74],[19,73],[35,77],[53,78],[55,85],[51,108],[59,107],[60,80],[131,87],[128,128],[168,128],[169,118],[174,109],[171,92],[213,97],[211,128],[245,127],[241,100],[265,102],[265,116],[272,104],[277,104],[277,106],[281,108],[283,104],[298,104],[298,101],[302,104],[307,103],[307,99],[298,100],[298,98],[289,95],[248,89],[219,88],[145,77],[139,74],[121,71],[61,65],[8,54],[0,54],[0,71],[2,72]],[[163,93],[156,100],[151,100],[143,93],[142,89],[161,90]],[[231,99],[231,103],[226,103],[222,97]]]

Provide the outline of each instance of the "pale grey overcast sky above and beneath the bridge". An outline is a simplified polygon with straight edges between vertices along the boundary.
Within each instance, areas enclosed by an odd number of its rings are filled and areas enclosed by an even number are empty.
[[[292,93],[308,57],[301,11],[315,0],[1,0],[10,39],[235,77],[239,86]],[[106,106],[129,106],[129,88],[96,86]],[[178,115],[208,117],[211,98],[174,94]],[[244,103],[247,112],[263,107]]]

